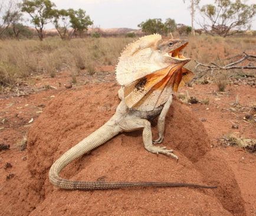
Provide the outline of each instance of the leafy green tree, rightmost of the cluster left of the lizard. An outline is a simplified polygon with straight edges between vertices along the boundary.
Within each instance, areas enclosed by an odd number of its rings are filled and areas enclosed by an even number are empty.
[[[78,9],[77,11],[68,9],[68,12],[70,14],[70,23],[73,28],[73,34],[78,32],[81,36],[84,31],[88,30],[89,25],[93,25],[90,16],[86,15],[86,11],[83,9]]]

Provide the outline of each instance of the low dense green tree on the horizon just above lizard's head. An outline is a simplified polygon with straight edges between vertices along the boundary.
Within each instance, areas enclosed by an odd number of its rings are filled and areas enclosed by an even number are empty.
[[[142,22],[138,25],[142,28],[142,32],[146,34],[165,34],[173,32],[176,29],[176,24],[174,19],[166,19],[165,23],[162,19],[147,19],[146,22]]]

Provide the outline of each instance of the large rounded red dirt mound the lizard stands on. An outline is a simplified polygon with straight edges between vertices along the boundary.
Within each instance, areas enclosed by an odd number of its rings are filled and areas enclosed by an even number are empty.
[[[113,115],[119,103],[117,89],[110,84],[69,89],[58,95],[34,123],[28,134],[28,168],[32,176],[29,190],[41,200],[31,215],[245,215],[234,174],[224,159],[211,153],[202,123],[176,100],[166,119],[163,145],[175,150],[179,162],[147,152],[142,132],[137,131],[117,135],[72,162],[61,175],[85,181],[191,182],[218,185],[218,189],[54,188],[48,181],[52,162]]]

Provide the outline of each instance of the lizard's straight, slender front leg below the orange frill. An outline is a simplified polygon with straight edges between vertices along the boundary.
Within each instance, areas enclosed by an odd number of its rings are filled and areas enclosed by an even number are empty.
[[[163,137],[164,137],[163,134],[165,132],[165,118],[171,104],[172,104],[172,95],[170,95],[170,97],[168,98],[168,101],[166,101],[165,105],[163,106],[162,112],[159,115],[159,118],[157,121],[159,138],[157,138],[156,140],[153,140],[153,144],[160,144],[163,142]]]

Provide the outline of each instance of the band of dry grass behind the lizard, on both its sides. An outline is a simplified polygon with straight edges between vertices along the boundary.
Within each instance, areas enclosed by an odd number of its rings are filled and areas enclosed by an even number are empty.
[[[219,61],[228,55],[253,50],[255,38],[220,38],[196,36],[189,39],[184,50],[186,57],[200,62]],[[0,41],[0,87],[15,85],[20,78],[40,73],[54,77],[63,69],[86,69],[96,72],[96,65],[116,65],[120,52],[132,38],[78,38],[61,41],[59,38]],[[188,64],[194,69],[195,62]]]

